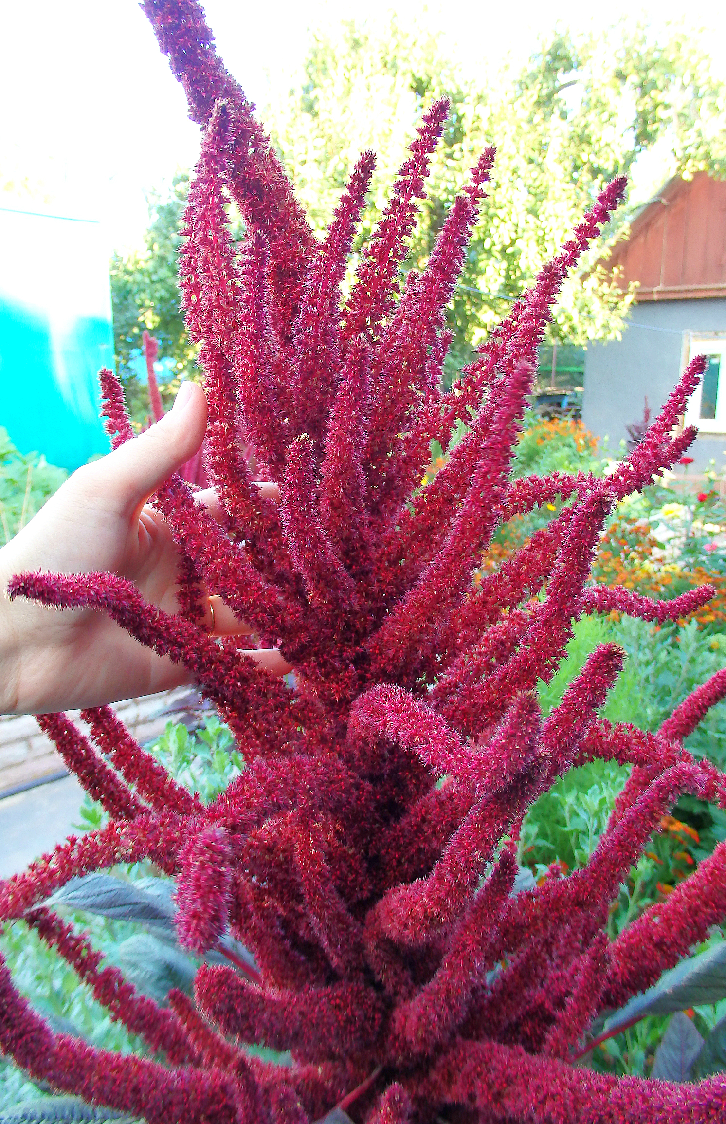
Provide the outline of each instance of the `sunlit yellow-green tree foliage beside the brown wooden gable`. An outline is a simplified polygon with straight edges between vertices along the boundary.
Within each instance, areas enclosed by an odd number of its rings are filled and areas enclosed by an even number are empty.
[[[384,38],[345,25],[319,36],[305,82],[273,107],[272,124],[309,214],[327,221],[357,153],[384,153],[363,241],[383,189],[403,158],[421,106],[446,93],[452,111],[429,181],[407,268],[426,260],[444,215],[485,144],[497,145],[489,198],[450,309],[454,359],[518,296],[552,255],[602,182],[632,170],[654,145],[670,149],[672,174],[724,167],[724,90],[684,35],[651,44],[641,28],[609,36],[556,34],[520,73],[505,71],[485,90],[442,58],[433,37],[414,38],[393,22]],[[625,234],[621,230],[620,234]],[[565,285],[551,339],[584,344],[616,335],[625,297],[596,269],[615,232],[593,247]]]

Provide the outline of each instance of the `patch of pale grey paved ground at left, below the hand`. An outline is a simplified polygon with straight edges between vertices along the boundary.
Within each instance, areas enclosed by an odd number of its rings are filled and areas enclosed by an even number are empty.
[[[33,859],[78,834],[83,790],[75,777],[39,785],[0,799],[0,878],[9,878]]]

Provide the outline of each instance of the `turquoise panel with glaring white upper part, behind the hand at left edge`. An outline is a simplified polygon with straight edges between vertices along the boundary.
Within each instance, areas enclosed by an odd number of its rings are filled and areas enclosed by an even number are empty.
[[[75,469],[109,444],[98,371],[114,365],[98,223],[0,208],[0,425],[22,453]]]

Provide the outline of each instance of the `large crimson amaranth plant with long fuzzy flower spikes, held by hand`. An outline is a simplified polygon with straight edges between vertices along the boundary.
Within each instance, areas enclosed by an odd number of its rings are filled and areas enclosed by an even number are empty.
[[[715,1121],[726,1078],[693,1086],[616,1080],[574,1059],[598,1013],[675,964],[726,913],[726,844],[614,942],[610,903],[679,795],[726,804],[724,778],[683,737],[726,694],[720,673],[659,734],[598,718],[621,665],[600,646],[543,720],[584,611],[662,619],[709,590],[654,606],[588,586],[614,505],[675,463],[674,423],[704,371],[686,370],[661,414],[606,480],[508,481],[536,347],[559,287],[623,197],[604,188],[573,237],[515,303],[452,390],[439,389],[445,308],[493,152],[451,208],[427,268],[402,293],[398,266],[447,106],[424,115],[391,202],[345,300],[346,255],[373,156],[353,170],[327,236],[311,235],[251,107],[215,54],[193,0],[145,0],[162,49],[205,127],[181,266],[190,338],[209,401],[208,466],[223,528],[179,477],[158,491],[182,565],[179,616],[110,574],[22,574],[12,596],[108,613],[190,668],[247,768],[203,807],[133,743],[108,709],[85,737],[43,719],[112,818],[0,887],[0,919],[25,918],[73,964],[152,1057],[54,1034],[0,969],[0,1045],[36,1080],[154,1122],[302,1124],[336,1104],[376,1124],[462,1121]],[[226,202],[247,227],[238,247]],[[131,437],[102,374],[115,444]],[[464,438],[425,488],[432,438]],[[280,506],[252,486],[254,445]],[[496,528],[566,500],[548,526],[473,583]],[[278,644],[293,688],[200,626],[203,580]],[[688,602],[688,604],[686,604]],[[94,744],[93,744],[94,743]],[[573,764],[633,764],[589,864],[514,892],[532,803]],[[45,899],[75,876],[151,860],[175,878],[180,940],[230,934],[254,966],[205,963],[193,1001],[162,1009]],[[233,958],[234,959],[234,958]],[[290,1050],[292,1064],[243,1043]]]

